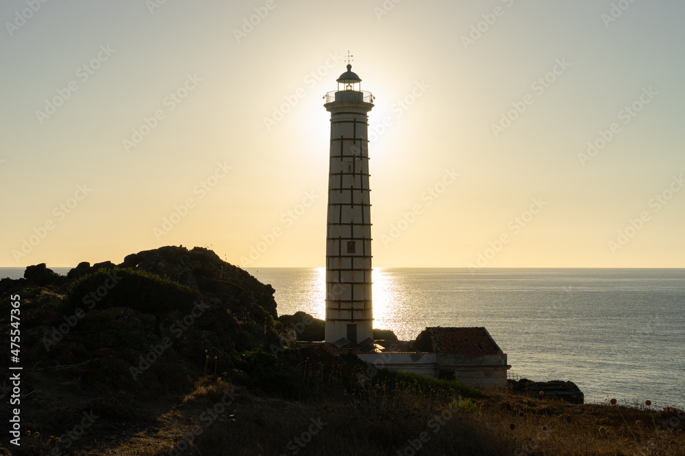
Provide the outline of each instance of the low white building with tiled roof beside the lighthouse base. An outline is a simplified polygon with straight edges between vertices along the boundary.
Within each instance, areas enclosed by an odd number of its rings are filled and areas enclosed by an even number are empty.
[[[390,344],[374,353],[356,353],[377,368],[460,381],[478,388],[504,388],[507,355],[484,327],[427,327],[412,344]]]

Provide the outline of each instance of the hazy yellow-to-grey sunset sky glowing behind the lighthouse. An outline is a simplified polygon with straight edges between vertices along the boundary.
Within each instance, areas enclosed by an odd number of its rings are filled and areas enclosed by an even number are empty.
[[[6,0],[0,266],[325,261],[347,52],[375,267],[685,267],[680,0]]]

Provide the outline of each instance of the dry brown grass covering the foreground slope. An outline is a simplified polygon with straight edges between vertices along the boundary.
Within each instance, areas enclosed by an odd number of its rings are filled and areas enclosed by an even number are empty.
[[[225,392],[236,394],[231,406],[214,420],[203,416]],[[369,390],[331,389],[306,401],[288,401],[216,381],[200,384],[184,404],[188,408],[176,417],[175,435],[166,435],[163,447],[129,454],[685,454],[682,411],[570,405],[510,392],[461,399],[414,386],[384,390],[377,384]],[[201,433],[190,438],[197,425]],[[177,444],[184,436],[187,444]],[[172,440],[182,453],[169,453]]]

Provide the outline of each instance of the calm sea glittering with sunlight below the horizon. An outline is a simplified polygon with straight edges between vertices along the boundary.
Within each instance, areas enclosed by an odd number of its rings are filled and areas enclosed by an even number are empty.
[[[279,315],[324,318],[324,268],[247,270],[273,286]],[[373,314],[401,340],[484,326],[510,378],[573,381],[586,403],[685,410],[685,269],[374,268]]]

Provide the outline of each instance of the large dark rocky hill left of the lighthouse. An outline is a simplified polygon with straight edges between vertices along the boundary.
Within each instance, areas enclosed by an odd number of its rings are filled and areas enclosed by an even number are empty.
[[[83,262],[66,278],[36,265],[0,283],[10,290],[22,296],[24,361],[106,388],[176,389],[189,368],[230,371],[282,337],[273,288],[201,247]]]

